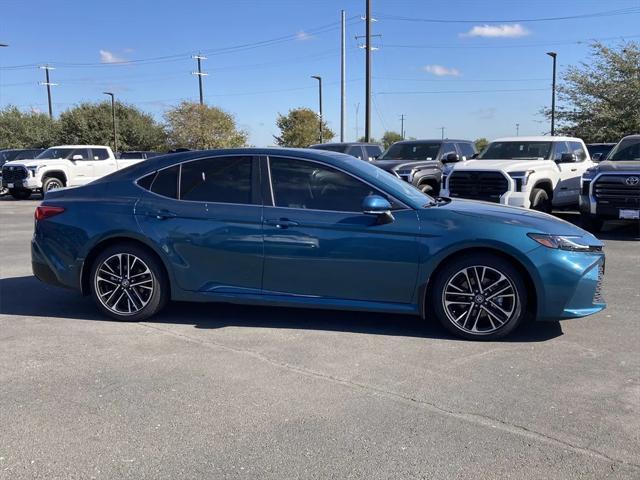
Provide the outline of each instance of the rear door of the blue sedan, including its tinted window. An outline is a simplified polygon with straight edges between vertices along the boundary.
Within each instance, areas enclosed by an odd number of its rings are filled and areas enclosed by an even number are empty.
[[[145,185],[148,179],[145,179]],[[183,290],[259,294],[262,205],[253,156],[192,160],[157,173],[136,205]]]

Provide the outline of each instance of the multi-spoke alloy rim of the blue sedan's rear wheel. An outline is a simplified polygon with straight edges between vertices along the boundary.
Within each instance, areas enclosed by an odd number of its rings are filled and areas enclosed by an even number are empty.
[[[156,281],[140,258],[118,253],[104,260],[94,277],[100,303],[117,315],[134,315],[151,300]]]

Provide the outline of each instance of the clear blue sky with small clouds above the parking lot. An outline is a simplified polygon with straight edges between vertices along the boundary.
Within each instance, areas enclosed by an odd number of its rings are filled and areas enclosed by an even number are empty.
[[[191,55],[205,52],[205,101],[233,113],[254,145],[270,145],[278,113],[317,108],[339,131],[340,10],[347,27],[347,140],[364,128],[364,0],[0,0],[0,106],[46,111],[38,85],[49,63],[54,112],[100,101],[105,90],[157,118],[198,99]],[[633,9],[624,14],[613,11]],[[589,39],[640,40],[640,0],[373,0],[375,137],[540,134],[551,59],[587,59]],[[594,13],[613,12],[612,14]],[[565,20],[530,19],[582,16]],[[446,20],[432,22],[424,20]],[[458,22],[464,21],[464,22]],[[262,42],[262,43],[260,43]],[[118,63],[133,61],[131,63]]]

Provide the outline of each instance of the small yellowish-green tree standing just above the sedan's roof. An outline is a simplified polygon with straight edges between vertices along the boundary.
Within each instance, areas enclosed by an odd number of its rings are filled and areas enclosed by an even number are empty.
[[[310,108],[295,108],[287,115],[278,114],[276,125],[280,136],[274,135],[276,143],[282,147],[308,147],[320,141],[318,115]],[[326,122],[322,122],[323,141],[331,140],[335,134]]]

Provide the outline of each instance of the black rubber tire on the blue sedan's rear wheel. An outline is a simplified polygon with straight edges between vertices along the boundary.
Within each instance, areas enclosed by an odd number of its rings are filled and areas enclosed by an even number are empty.
[[[141,308],[134,313],[118,313],[117,311],[114,311],[113,308],[108,308],[104,304],[103,300],[100,299],[100,296],[102,294],[104,295],[103,298],[105,301],[108,302],[109,300],[108,298],[106,298],[107,296],[105,295],[104,291],[103,292],[98,291],[99,289],[103,289],[105,280],[97,280],[96,276],[98,275],[100,267],[103,267],[103,264],[105,261],[108,261],[109,259],[112,259],[118,255],[123,255],[123,256],[129,255],[129,256],[137,257],[137,259],[139,259],[144,266],[148,267],[149,273],[144,274],[144,276],[142,276],[142,278],[139,278],[139,279],[142,281],[148,278],[151,283],[147,283],[146,285],[147,286],[150,285],[153,288],[153,290],[146,304],[144,306],[141,306]],[[118,272],[117,269],[114,269],[114,270],[116,274],[121,273],[121,272]],[[104,276],[104,272],[106,271],[107,270],[103,268],[101,275]],[[115,276],[117,275],[114,275],[114,277]],[[124,275],[122,275],[122,277],[124,277]],[[111,278],[110,280],[114,280],[114,278]],[[129,292],[128,295],[130,299],[133,299],[134,297],[137,299],[140,299],[140,294],[143,293],[142,289],[147,287],[140,286],[136,288],[133,279],[131,280],[132,281],[129,284],[129,278],[127,276],[127,285],[124,285],[124,286],[122,282],[119,282],[117,280],[115,281],[116,283],[119,283],[119,288],[121,289],[120,291],[122,292],[123,295],[126,293],[124,292],[124,290],[128,290]],[[98,309],[103,314],[120,321],[137,322],[137,321],[150,318],[151,316],[155,315],[160,310],[162,310],[162,308],[164,308],[164,306],[167,304],[170,297],[169,281],[167,279],[166,272],[160,260],[153,253],[150,253],[145,248],[142,248],[138,245],[131,244],[131,243],[120,243],[120,244],[112,245],[107,249],[105,249],[103,252],[101,252],[96,257],[93,264],[91,265],[91,276],[89,278],[89,281],[91,284],[91,296],[93,297],[94,302],[98,306]],[[109,284],[107,283],[107,285]],[[137,297],[136,297],[136,292],[133,291],[134,289],[137,292],[139,292]],[[120,295],[119,292],[115,293],[115,296],[119,296],[119,295]],[[118,307],[122,307],[122,305],[126,301],[127,301],[127,298],[125,296],[123,303],[118,304],[115,310],[118,310],[119,309]],[[136,305],[136,308],[137,307],[138,305]],[[120,309],[123,309],[123,308],[120,308]]]

